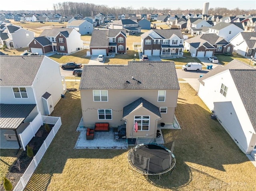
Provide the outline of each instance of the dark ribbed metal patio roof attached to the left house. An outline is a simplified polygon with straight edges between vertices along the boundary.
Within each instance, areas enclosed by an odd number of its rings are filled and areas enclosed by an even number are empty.
[[[35,106],[36,104],[0,104],[0,128],[17,129]]]

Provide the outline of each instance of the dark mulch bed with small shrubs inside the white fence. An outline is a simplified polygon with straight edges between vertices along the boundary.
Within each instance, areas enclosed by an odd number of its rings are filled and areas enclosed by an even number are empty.
[[[54,125],[49,124],[49,126],[50,126],[50,130],[52,130],[52,127]],[[36,155],[36,153],[38,152],[38,150],[44,143],[44,140],[46,139],[48,134],[49,134],[49,132],[46,132],[44,125],[43,125],[39,128],[38,132],[36,132],[36,136],[34,136],[32,138],[32,140],[30,140],[30,142],[28,143],[28,145],[33,150],[34,156]],[[20,149],[22,149],[22,148],[20,148]],[[19,169],[14,166],[14,165],[16,165],[16,162],[14,162],[12,167],[10,167],[8,174],[6,175],[6,178],[8,180],[10,180],[10,182],[12,183],[13,188],[17,185],[18,181],[20,180],[20,177],[22,177],[23,173],[26,171],[26,169],[27,169],[28,165],[30,164],[30,162],[32,161],[33,157],[29,158],[27,156],[27,151],[23,151],[20,154],[20,156],[18,156],[18,159],[20,159],[21,170],[19,171]],[[3,185],[0,185],[0,190],[4,190]]]

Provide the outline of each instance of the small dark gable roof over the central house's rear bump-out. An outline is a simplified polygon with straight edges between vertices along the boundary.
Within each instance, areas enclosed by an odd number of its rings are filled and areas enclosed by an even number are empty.
[[[147,110],[151,111],[152,113],[156,114],[157,116],[161,117],[159,108],[154,104],[150,103],[149,101],[145,100],[144,98],[138,98],[134,102],[124,106],[123,117],[127,116],[130,112],[132,112],[136,107],[142,105]]]

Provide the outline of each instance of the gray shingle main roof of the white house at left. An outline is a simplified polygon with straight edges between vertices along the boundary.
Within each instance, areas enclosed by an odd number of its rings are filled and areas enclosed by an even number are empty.
[[[31,86],[43,59],[44,55],[1,56],[0,86]]]

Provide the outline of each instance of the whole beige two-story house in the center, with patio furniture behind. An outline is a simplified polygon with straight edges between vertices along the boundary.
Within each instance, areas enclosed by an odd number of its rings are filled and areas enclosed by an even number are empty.
[[[147,138],[156,136],[160,123],[173,124],[180,87],[173,61],[129,61],[85,65],[79,89],[84,126],[108,122],[124,126],[126,138]]]

